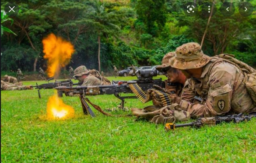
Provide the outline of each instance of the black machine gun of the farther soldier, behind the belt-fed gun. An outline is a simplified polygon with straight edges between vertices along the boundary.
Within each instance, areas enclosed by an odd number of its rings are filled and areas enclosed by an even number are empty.
[[[53,80],[53,78],[49,78],[47,80],[48,83],[46,84],[41,84],[41,85],[38,85],[36,83],[35,86],[32,86],[33,88],[36,88],[38,89],[38,96],[39,98],[41,98],[41,94],[40,94],[40,90],[41,89],[53,89],[55,87],[58,87],[58,86],[72,86],[72,85],[78,85],[78,83],[73,83],[73,81],[71,81],[70,79],[69,80],[65,80],[65,81],[55,81],[55,82],[49,82],[50,80]],[[58,96],[59,97],[62,97],[63,96],[63,93],[64,92],[61,92],[61,91],[58,91]]]

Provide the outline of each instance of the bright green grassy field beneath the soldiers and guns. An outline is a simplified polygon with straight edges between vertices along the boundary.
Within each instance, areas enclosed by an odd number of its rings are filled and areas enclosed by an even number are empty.
[[[109,77],[130,80],[134,77]],[[24,82],[35,85],[36,81]],[[45,83],[45,81],[39,81]],[[83,115],[77,97],[63,97],[75,115],[67,120],[47,120],[46,104],[53,90],[1,91],[1,163],[143,162],[143,163],[255,163],[256,119],[239,124],[222,123],[201,129],[179,128],[165,132],[164,125],[134,121],[133,116]],[[114,115],[131,115],[143,108],[138,99],[127,99],[128,111],[117,109],[114,95],[89,97]],[[116,108],[110,112],[107,109]]]

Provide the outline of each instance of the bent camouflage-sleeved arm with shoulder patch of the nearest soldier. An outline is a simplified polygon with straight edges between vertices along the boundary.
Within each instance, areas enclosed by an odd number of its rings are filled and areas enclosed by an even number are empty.
[[[234,67],[220,64],[211,72],[210,89],[203,104],[185,101],[186,97],[183,98],[183,94],[182,100],[176,102],[182,106],[183,110],[190,112],[193,118],[223,115],[231,109],[230,102],[236,72]]]

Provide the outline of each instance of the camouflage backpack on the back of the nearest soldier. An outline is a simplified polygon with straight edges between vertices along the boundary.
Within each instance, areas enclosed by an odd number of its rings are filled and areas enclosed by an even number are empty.
[[[224,61],[227,61],[228,63],[231,63],[242,70],[243,74],[245,75],[245,87],[251,96],[253,103],[256,105],[256,70],[244,62],[235,59],[235,56],[231,54],[220,54],[214,56],[213,58],[222,58]]]

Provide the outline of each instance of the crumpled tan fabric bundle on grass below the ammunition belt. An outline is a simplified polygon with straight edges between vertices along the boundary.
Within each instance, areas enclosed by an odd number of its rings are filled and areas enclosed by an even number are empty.
[[[155,124],[173,123],[176,121],[187,121],[190,119],[190,113],[180,109],[179,104],[166,105],[164,107],[152,105],[143,110],[133,108],[133,115],[138,118],[144,118]]]

